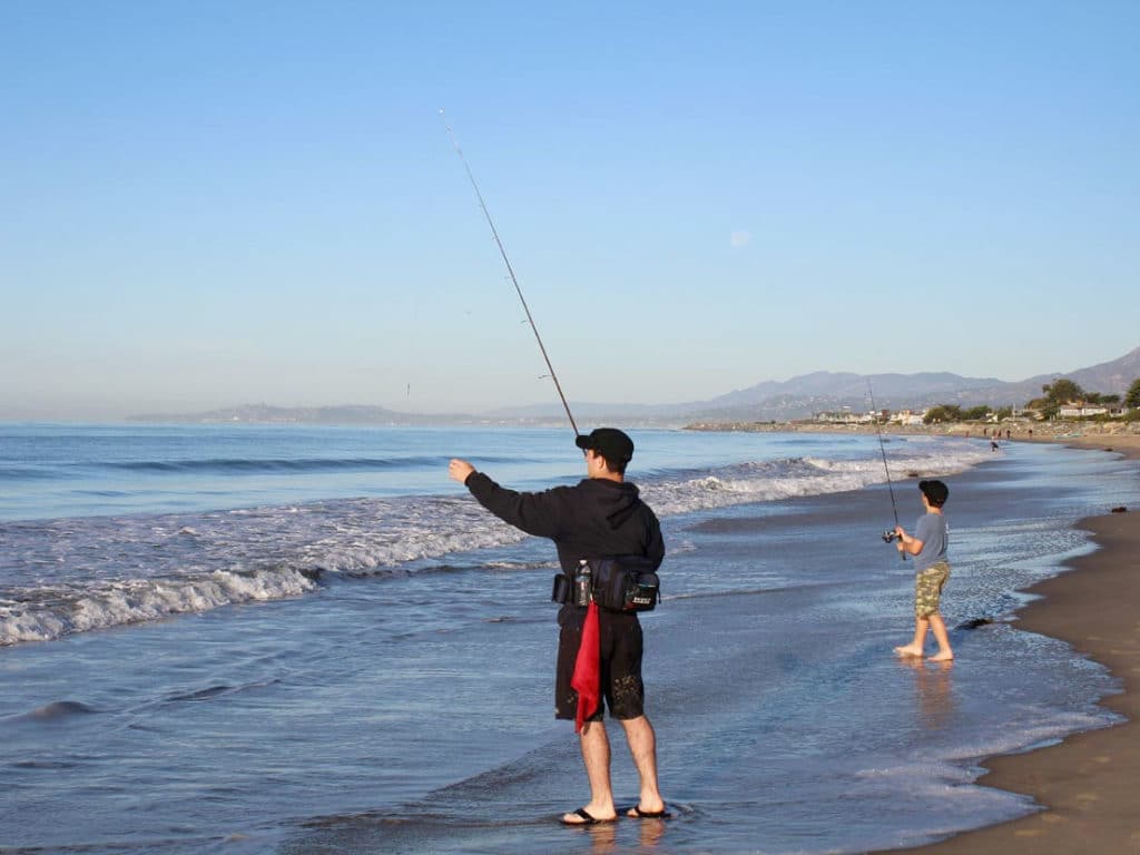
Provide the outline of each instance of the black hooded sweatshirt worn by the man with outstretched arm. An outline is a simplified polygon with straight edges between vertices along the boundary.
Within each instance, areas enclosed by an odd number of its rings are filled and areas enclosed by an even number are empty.
[[[465,484],[483,507],[528,535],[548,537],[562,569],[573,575],[581,559],[642,555],[654,569],[665,559],[657,515],[628,481],[586,478],[573,487],[516,492],[482,472]]]

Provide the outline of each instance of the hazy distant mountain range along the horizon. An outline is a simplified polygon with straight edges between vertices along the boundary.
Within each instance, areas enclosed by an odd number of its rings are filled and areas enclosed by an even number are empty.
[[[937,404],[962,407],[988,404],[1024,406],[1041,388],[1066,377],[1088,392],[1124,394],[1140,377],[1140,348],[1119,359],[1072,372],[1052,372],[1017,382],[993,377],[962,377],[945,372],[920,374],[853,374],[815,372],[784,382],[765,381],[705,401],[660,405],[581,404],[571,401],[576,418],[625,424],[677,425],[690,421],[785,422],[820,412],[870,408],[868,384],[880,409],[923,409]],[[139,422],[256,422],[302,424],[561,424],[565,414],[552,405],[499,408],[477,414],[425,415],[373,406],[275,407],[266,404],[179,415],[140,415]]]

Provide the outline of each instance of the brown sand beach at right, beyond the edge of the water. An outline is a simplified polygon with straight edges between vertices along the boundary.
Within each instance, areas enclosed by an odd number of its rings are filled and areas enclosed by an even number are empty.
[[[1048,441],[1045,437],[1035,439]],[[1140,461],[1140,437],[1058,437]],[[1109,668],[1123,684],[1105,707],[1126,722],[1070,736],[1060,744],[985,762],[979,784],[1032,796],[1044,809],[910,852],[1140,853],[1140,508],[1082,520],[1100,548],[1031,588],[1042,598],[1019,612],[1026,630],[1061,638]],[[897,850],[896,850],[897,852]]]

